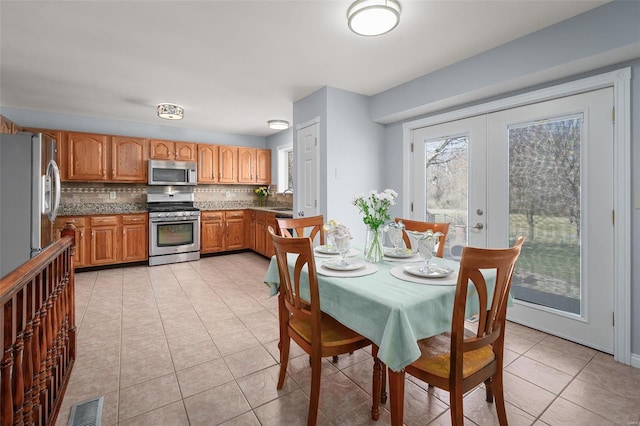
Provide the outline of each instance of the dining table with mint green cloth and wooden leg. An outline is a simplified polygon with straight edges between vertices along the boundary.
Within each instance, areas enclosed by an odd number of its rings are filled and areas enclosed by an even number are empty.
[[[349,267],[338,267],[335,254],[324,246],[314,248],[320,309],[340,323],[371,340],[377,356],[389,372],[391,424],[403,423],[404,367],[420,357],[418,340],[449,331],[459,263],[433,258],[431,266],[441,274],[424,276],[417,253],[392,252],[385,248],[382,262],[365,262],[360,248],[351,248],[346,256]],[[293,265],[292,259],[289,260]],[[482,271],[487,281],[489,300],[495,285],[495,273]],[[308,282],[303,271],[301,282]],[[278,265],[271,258],[264,278],[270,294],[279,290]],[[305,294],[306,291],[306,294]],[[300,293],[308,298],[308,285]],[[467,317],[477,313],[478,298],[469,288]],[[283,303],[282,301],[280,303]],[[284,310],[280,305],[280,312]],[[282,333],[282,331],[281,331]]]

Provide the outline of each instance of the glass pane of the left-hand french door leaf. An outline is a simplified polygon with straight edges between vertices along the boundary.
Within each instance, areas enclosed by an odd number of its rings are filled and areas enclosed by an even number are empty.
[[[459,259],[467,244],[467,170],[469,137],[425,142],[427,222],[449,222],[446,258]]]

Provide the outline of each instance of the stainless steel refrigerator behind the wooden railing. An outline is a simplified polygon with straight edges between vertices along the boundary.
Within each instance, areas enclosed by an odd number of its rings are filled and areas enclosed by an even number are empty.
[[[56,141],[0,135],[0,277],[51,244],[60,204]]]

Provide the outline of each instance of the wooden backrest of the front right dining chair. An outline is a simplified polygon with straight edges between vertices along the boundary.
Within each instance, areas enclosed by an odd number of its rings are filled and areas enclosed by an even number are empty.
[[[462,365],[464,352],[492,345],[496,357],[502,357],[511,279],[524,240],[524,237],[519,237],[516,244],[507,249],[465,247],[462,250],[451,323],[452,376],[454,363]],[[490,306],[487,283],[481,270],[494,270],[496,274]],[[474,297],[477,297],[479,302],[478,331],[475,337],[465,339],[464,322],[468,314],[466,312],[467,294],[471,285],[475,287],[477,296]],[[460,370],[458,373],[462,375],[462,368],[455,370]]]

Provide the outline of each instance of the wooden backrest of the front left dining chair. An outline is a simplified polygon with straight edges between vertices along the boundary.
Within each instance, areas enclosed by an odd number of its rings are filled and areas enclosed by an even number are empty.
[[[284,305],[294,317],[311,322],[312,342],[320,342],[320,295],[311,239],[279,236],[271,226],[268,231],[276,252],[280,293],[284,298]],[[294,259],[295,264],[291,273],[289,261],[293,262]],[[308,280],[303,277],[305,269]],[[301,285],[305,293],[308,289],[308,298],[301,295]]]

